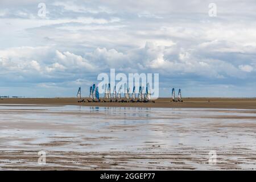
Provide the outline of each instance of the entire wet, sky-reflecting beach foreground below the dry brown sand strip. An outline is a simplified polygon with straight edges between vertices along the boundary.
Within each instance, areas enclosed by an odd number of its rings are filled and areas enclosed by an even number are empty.
[[[256,110],[4,104],[0,118],[1,170],[256,170]]]

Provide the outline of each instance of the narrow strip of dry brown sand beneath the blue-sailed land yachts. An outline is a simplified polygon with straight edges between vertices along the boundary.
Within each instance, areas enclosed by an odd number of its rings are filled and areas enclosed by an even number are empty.
[[[90,100],[82,98],[82,100]],[[100,107],[175,107],[175,108],[226,108],[256,109],[256,98],[183,98],[184,102],[171,102],[158,98],[155,103],[77,102],[77,98],[0,98],[0,104],[30,105],[83,105]]]

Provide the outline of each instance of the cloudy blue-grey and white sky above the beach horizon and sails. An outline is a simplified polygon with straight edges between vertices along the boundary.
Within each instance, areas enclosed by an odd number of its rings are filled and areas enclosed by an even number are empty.
[[[86,96],[115,68],[159,73],[161,97],[256,97],[255,17],[254,0],[1,0],[0,96]]]

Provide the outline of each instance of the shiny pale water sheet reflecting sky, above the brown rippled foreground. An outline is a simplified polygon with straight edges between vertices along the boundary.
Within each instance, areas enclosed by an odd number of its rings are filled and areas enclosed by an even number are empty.
[[[65,141],[47,150],[131,150],[147,142],[168,147],[240,146],[255,148],[251,119],[225,119],[226,115],[251,116],[220,109],[85,106],[1,106],[2,148],[40,148],[44,143]],[[207,116],[212,118],[205,118]],[[232,127],[231,127],[232,126]],[[239,127],[238,127],[239,126]],[[243,126],[243,127],[240,127]],[[241,135],[242,134],[242,135]],[[227,137],[228,136],[228,137]],[[90,146],[81,146],[88,142]],[[1,150],[0,146],[0,150]],[[48,147],[51,146],[51,147]]]

